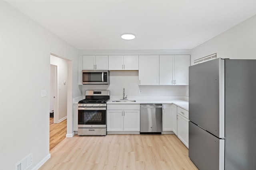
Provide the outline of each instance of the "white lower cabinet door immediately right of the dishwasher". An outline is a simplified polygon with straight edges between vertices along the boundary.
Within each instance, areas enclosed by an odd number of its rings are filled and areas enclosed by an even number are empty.
[[[172,105],[163,104],[163,131],[172,131]]]

